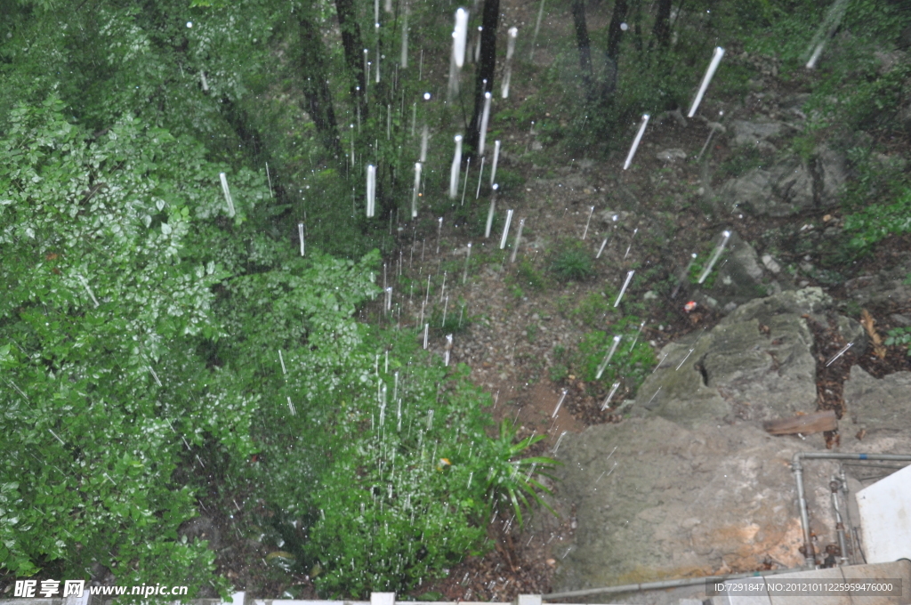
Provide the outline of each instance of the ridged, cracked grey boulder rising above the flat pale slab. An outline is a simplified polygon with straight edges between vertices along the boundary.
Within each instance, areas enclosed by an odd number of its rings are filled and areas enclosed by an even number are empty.
[[[652,414],[683,426],[812,412],[814,341],[801,315],[824,321],[831,304],[819,288],[748,302],[711,332],[665,346],[637,400]],[[845,323],[844,330],[849,328]]]

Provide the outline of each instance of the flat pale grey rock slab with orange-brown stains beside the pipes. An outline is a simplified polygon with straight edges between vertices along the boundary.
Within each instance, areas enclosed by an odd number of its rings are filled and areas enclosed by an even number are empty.
[[[788,462],[797,450],[823,447],[821,436],[803,442],[749,425],[687,429],[633,418],[563,443],[558,489],[576,505],[578,529],[558,559],[556,590],[756,569],[765,557],[801,564]],[[824,506],[832,467],[807,467],[820,535],[834,525]]]

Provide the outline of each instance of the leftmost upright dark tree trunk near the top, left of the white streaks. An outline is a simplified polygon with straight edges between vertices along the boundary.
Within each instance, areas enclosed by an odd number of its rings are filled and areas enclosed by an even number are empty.
[[[301,32],[301,78],[306,110],[316,126],[323,147],[335,159],[342,158],[338,125],[335,123],[333,97],[329,90],[326,73],[325,50],[322,47],[320,30],[304,15],[298,13]]]

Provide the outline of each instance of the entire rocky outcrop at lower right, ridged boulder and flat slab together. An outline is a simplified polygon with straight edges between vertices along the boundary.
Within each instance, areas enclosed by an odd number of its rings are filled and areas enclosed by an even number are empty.
[[[819,288],[747,302],[662,350],[635,417],[565,436],[557,488],[576,531],[573,543],[554,547],[554,590],[803,564],[789,463],[795,452],[824,451],[824,436],[770,436],[758,421],[815,409],[817,360],[803,315],[825,321],[832,305]],[[837,325],[863,345],[859,324]],[[855,366],[844,383],[842,450],[911,451],[909,392],[911,373],[876,379]],[[836,539],[829,480],[837,468],[804,465],[817,552]],[[865,477],[845,468],[855,493]]]

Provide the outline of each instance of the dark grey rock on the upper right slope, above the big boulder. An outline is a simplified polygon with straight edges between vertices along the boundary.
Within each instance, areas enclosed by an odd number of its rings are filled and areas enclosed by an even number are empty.
[[[847,179],[844,156],[817,148],[809,162],[786,159],[771,168],[752,169],[726,181],[719,190],[728,210],[755,216],[785,217],[804,210],[829,208],[838,201]]]

